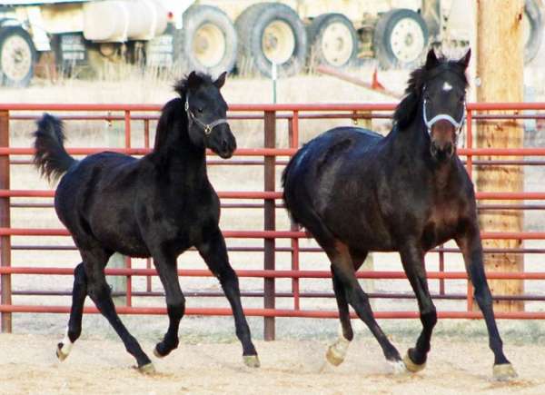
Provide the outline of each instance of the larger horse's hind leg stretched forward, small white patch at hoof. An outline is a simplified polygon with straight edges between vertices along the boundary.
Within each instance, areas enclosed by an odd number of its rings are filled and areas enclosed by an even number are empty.
[[[386,360],[393,365],[395,372],[405,371],[405,366],[401,360],[400,353],[391,344],[381,327],[375,321],[372,315],[371,304],[369,297],[362,290],[360,283],[356,279],[352,258],[348,247],[342,242],[335,242],[333,248],[325,248],[332,262],[332,272],[342,283],[346,294],[346,300],[356,311],[360,319],[372,331],[372,334],[381,345],[382,352]]]

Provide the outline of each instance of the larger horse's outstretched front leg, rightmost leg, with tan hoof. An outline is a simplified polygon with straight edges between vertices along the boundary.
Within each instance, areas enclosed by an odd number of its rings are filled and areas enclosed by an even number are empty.
[[[468,226],[466,231],[456,238],[456,242],[463,254],[466,271],[475,289],[475,299],[482,311],[486,328],[489,332],[490,349],[494,353],[494,379],[513,379],[517,377],[517,373],[510,364],[510,361],[505,357],[505,354],[503,354],[503,342],[500,338],[500,332],[498,331],[492,308],[492,294],[490,293],[486,273],[484,272],[481,234],[478,225],[474,223]]]

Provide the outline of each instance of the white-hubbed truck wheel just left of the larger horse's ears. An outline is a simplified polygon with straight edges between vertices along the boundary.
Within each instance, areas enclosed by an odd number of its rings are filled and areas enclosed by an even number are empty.
[[[428,45],[428,27],[420,14],[396,9],[381,15],[373,34],[375,57],[381,67],[412,67]]]

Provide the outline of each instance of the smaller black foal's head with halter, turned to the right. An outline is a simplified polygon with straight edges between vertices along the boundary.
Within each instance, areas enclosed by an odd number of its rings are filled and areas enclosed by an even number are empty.
[[[210,148],[223,159],[233,156],[236,140],[227,123],[227,104],[220,92],[225,75],[213,81],[208,75],[192,72],[177,87],[183,95],[187,129],[191,142],[199,147]]]

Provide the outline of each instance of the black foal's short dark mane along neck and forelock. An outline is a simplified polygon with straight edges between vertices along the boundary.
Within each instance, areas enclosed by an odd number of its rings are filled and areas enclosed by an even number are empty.
[[[161,116],[159,117],[159,122],[157,123],[157,130],[155,133],[155,144],[154,149],[162,147],[166,144],[169,133],[172,133],[174,123],[178,120],[185,119],[185,110],[183,104],[185,101],[185,94],[189,89],[197,88],[201,84],[213,84],[213,79],[209,74],[202,73],[191,73],[180,80],[178,80],[173,85],[173,90],[180,97],[176,97],[173,100],[169,101],[167,104],[164,104],[163,110],[161,111]],[[186,123],[180,123],[178,127],[185,125]]]

